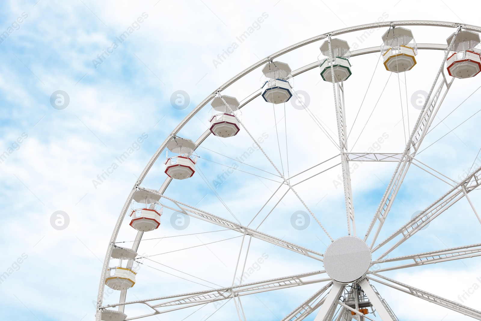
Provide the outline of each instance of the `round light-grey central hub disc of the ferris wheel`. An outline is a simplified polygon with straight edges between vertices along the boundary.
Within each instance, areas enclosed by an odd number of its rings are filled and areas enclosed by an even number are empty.
[[[355,236],[342,236],[329,244],[324,253],[324,269],[337,282],[351,283],[366,274],[371,250]]]

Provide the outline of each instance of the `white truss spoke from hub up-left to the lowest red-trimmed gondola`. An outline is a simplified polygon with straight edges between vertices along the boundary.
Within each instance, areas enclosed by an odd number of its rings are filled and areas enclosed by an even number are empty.
[[[139,187],[139,189],[143,189],[143,188]],[[152,192],[152,193],[154,193],[154,192]],[[184,214],[189,215],[191,217],[200,218],[200,219],[202,219],[206,222],[214,223],[216,225],[231,229],[232,231],[238,231],[242,234],[251,235],[251,236],[253,236],[253,237],[255,237],[259,240],[263,240],[263,241],[269,242],[271,244],[275,244],[275,245],[278,245],[278,246],[283,247],[285,249],[291,250],[293,252],[302,254],[306,257],[311,257],[311,258],[314,258],[318,261],[322,261],[322,254],[319,253],[319,252],[310,250],[310,249],[305,248],[305,247],[300,246],[300,245],[293,244],[291,242],[283,241],[283,240],[281,240],[277,237],[268,235],[268,234],[263,233],[263,232],[253,230],[253,229],[245,227],[245,226],[243,226],[239,223],[235,223],[235,222],[229,221],[227,219],[215,216],[214,214],[208,213],[208,212],[203,211],[201,209],[198,209],[198,208],[192,207],[190,205],[184,204],[182,202],[176,201],[173,198],[167,197],[165,195],[161,195],[160,193],[157,193],[157,194],[159,196],[161,196],[162,198],[165,198],[165,199],[173,202],[178,207],[178,208],[174,208],[174,207],[162,204],[162,206],[164,206],[165,208],[169,208],[169,209],[174,210],[174,211],[177,211],[177,210],[180,209]]]

